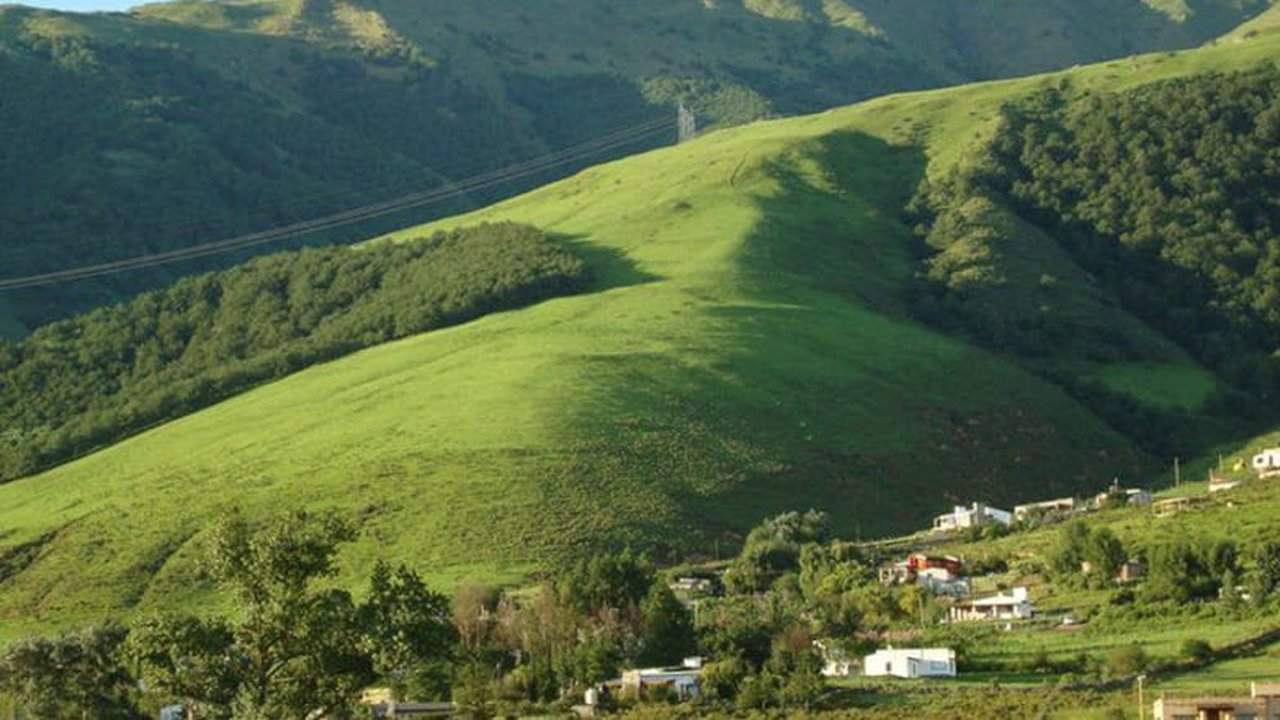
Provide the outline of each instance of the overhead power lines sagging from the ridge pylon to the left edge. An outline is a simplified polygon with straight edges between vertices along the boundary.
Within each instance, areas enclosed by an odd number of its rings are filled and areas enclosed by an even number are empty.
[[[479,190],[490,188],[498,184],[544,173],[553,168],[567,165],[590,158],[593,155],[605,152],[608,150],[614,150],[618,147],[632,145],[635,142],[659,135],[662,132],[668,132],[669,129],[671,129],[671,119],[666,117],[658,118],[645,123],[640,123],[637,126],[614,131],[608,135],[596,137],[594,140],[589,140],[579,145],[558,150],[556,152],[549,152],[547,155],[541,155],[531,160],[499,168],[497,170],[481,173],[458,182],[452,182],[443,187],[403,195],[401,197],[396,197],[392,200],[364,205],[361,208],[353,208],[349,210],[343,210],[340,213],[324,215],[320,218],[312,218],[308,220],[289,223],[285,225],[265,231],[241,234],[214,242],[192,245],[177,250],[169,250],[165,252],[154,252],[147,255],[138,255],[134,258],[127,258],[122,260],[99,263],[93,265],[69,268],[65,270],[55,270],[50,273],[41,273],[19,278],[0,279],[0,291],[44,287],[64,282],[110,275],[128,270],[140,270],[143,268],[154,268],[157,265],[195,260],[197,258],[207,258],[211,255],[220,255],[225,252],[234,252],[248,247],[255,247],[271,242],[280,242],[284,240],[289,240],[303,234],[310,234],[314,232],[344,227],[364,220],[371,220],[394,213],[411,210],[413,208],[435,205]]]

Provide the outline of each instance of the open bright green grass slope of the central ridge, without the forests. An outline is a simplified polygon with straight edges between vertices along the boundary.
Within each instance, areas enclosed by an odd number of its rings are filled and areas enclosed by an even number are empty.
[[[1258,41],[1071,73],[1123,87]],[[372,348],[0,487],[0,634],[207,601],[207,524],[335,509],[375,559],[516,579],[602,543],[708,548],[823,507],[845,534],[1133,471],[1057,388],[906,319],[900,208],[1030,78],[710,135],[447,224],[543,227],[585,296]],[[429,232],[407,231],[404,236]]]

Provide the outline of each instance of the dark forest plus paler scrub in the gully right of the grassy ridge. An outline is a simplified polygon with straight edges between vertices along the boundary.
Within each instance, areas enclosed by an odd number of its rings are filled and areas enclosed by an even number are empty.
[[[1212,418],[1236,428],[1274,420],[1277,91],[1280,70],[1265,65],[1124,94],[1060,83],[1009,105],[992,152],[916,201],[936,251],[918,307],[1028,359],[1153,451],[1211,442]],[[1044,242],[1087,274],[1028,274],[1019,264]],[[1138,325],[1117,332],[1073,316],[1064,291],[1103,293],[1114,314],[1139,318],[1212,369],[1221,384],[1203,413],[1140,407],[1071,379],[1065,360],[1153,361],[1166,351]]]

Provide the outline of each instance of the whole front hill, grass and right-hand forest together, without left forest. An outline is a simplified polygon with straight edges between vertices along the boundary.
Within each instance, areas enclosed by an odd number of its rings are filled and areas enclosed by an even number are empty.
[[[1229,188],[1274,183],[1277,44],[755,123],[396,233],[518,223],[593,281],[0,487],[0,616],[198,605],[233,506],[351,518],[344,582],[457,582],[1152,483],[1274,421],[1274,209]]]

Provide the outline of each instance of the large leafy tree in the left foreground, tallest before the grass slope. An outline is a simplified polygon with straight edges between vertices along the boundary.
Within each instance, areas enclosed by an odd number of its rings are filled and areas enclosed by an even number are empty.
[[[335,516],[294,512],[255,529],[241,516],[214,533],[209,571],[236,600],[233,618],[164,618],[140,625],[129,655],[148,692],[197,716],[352,716],[360,689],[439,666],[454,646],[448,601],[406,568],[379,566],[366,602],[326,587]]]

